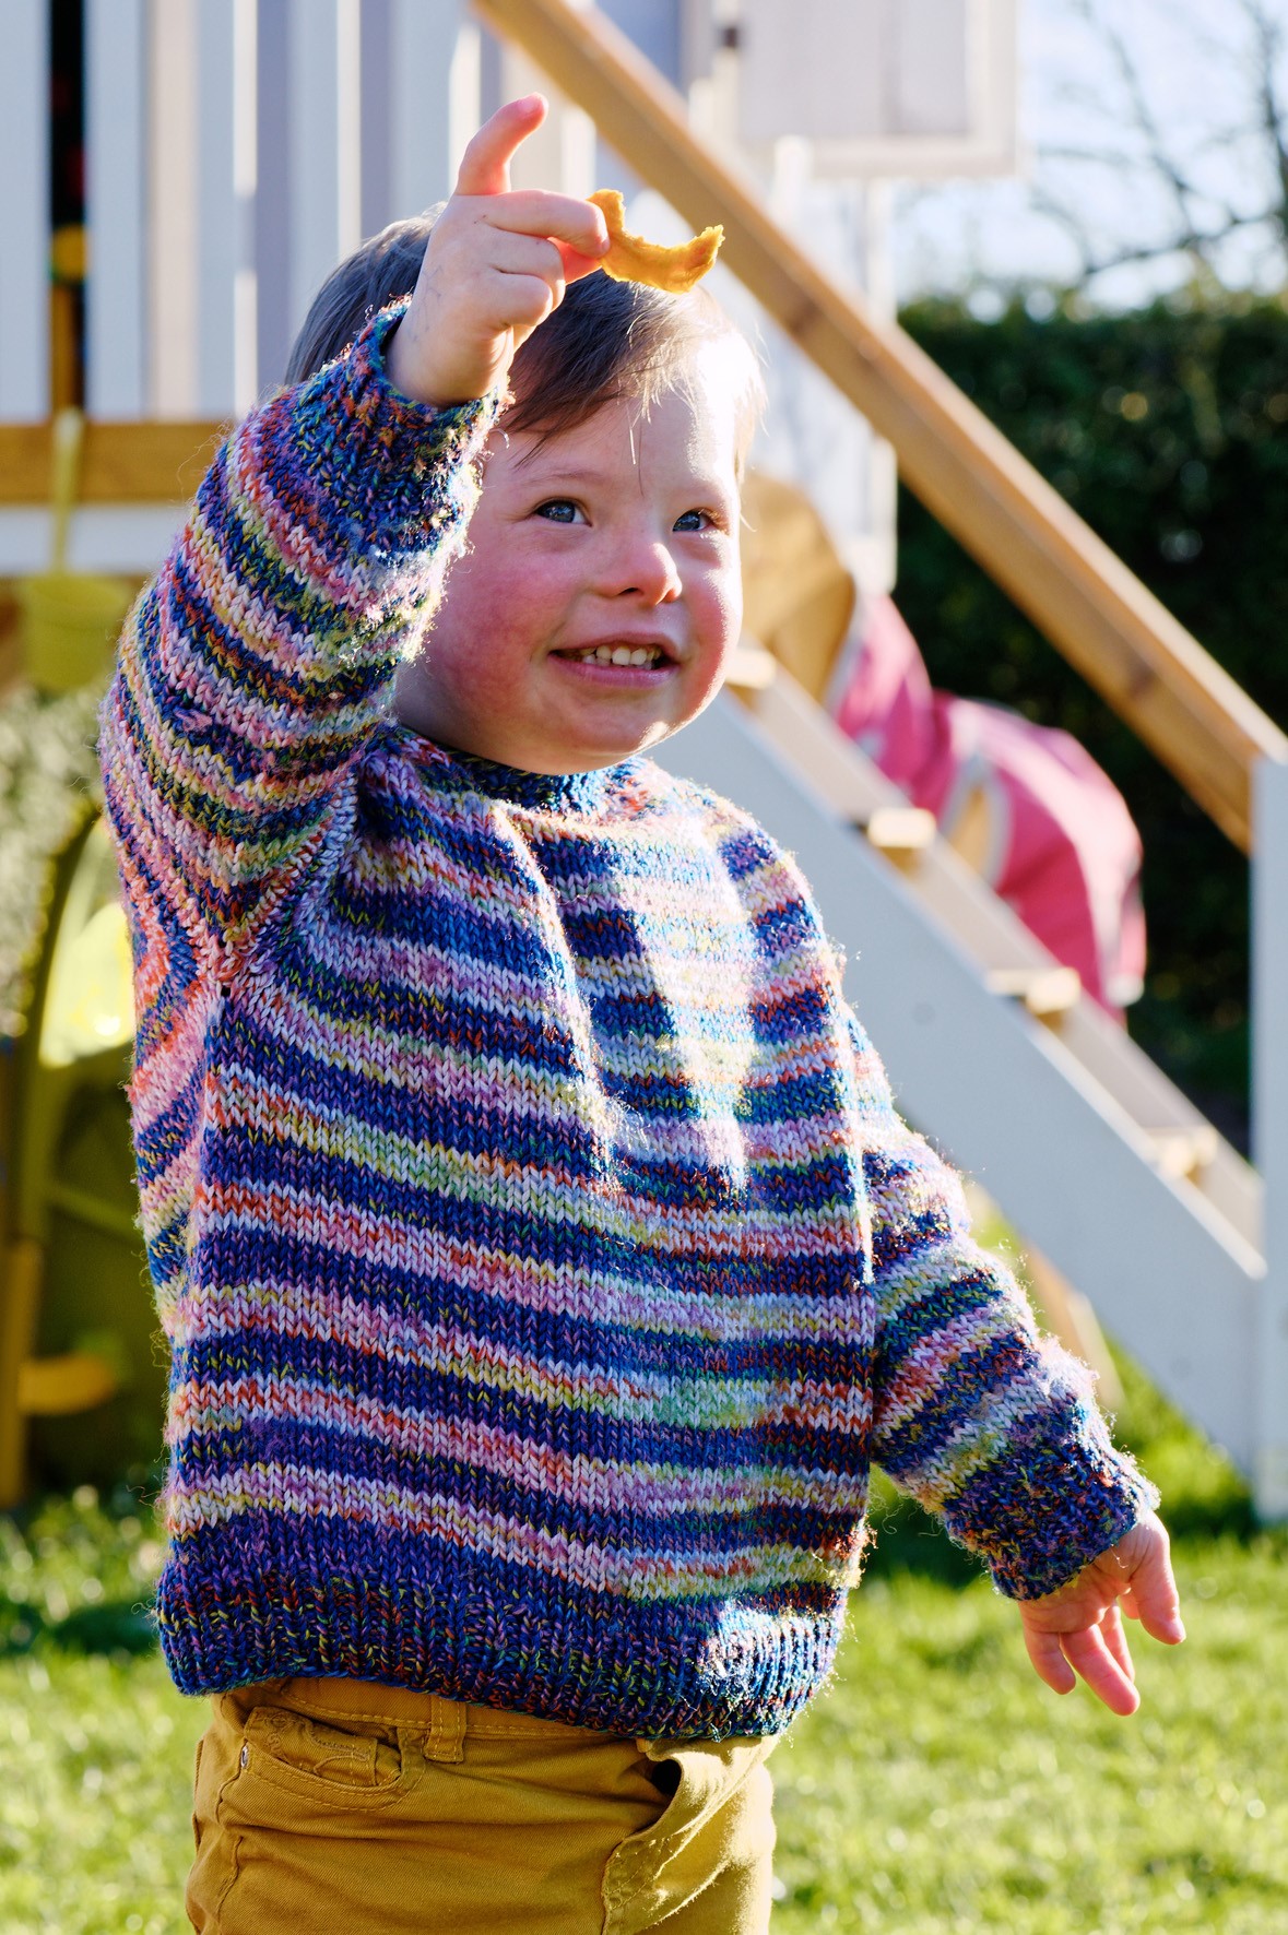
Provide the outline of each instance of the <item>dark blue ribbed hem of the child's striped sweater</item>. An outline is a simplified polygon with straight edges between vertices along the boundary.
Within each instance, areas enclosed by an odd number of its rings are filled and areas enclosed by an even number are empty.
[[[314,1527],[287,1565],[250,1527],[170,1560],[157,1616],[182,1693],[339,1676],[643,1740],[724,1740],[790,1726],[841,1637],[841,1594],[835,1616],[784,1612],[771,1639],[751,1602],[757,1631],[738,1643],[726,1598],[577,1593],[475,1554],[438,1577],[407,1563],[362,1577],[343,1531]]]

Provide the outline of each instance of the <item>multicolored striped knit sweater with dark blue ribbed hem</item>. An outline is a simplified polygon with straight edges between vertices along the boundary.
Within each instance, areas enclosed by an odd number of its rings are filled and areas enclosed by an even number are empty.
[[[1152,1494],[893,1113],[792,861],[649,760],[393,724],[492,404],[401,399],[387,327],[229,439],[103,714],[165,1652],[775,1732],[872,1459],[1019,1596]]]

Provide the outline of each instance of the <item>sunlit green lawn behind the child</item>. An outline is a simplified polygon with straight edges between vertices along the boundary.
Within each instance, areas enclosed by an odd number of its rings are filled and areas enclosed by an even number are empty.
[[[1189,1641],[1116,1720],[1032,1678],[1013,1608],[881,1492],[825,1697],[779,1749],[775,1935],[1288,1935],[1288,1536],[1127,1374]],[[180,1931],[192,1755],[134,1492],[0,1519],[0,1931]]]

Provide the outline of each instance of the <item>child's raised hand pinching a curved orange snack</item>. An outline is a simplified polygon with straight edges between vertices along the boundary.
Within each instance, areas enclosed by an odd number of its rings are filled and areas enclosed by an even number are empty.
[[[411,308],[389,344],[389,375],[418,402],[469,402],[500,383],[567,283],[608,250],[591,201],[509,188],[509,163],[546,118],[540,95],[498,108],[465,149],[434,223]]]

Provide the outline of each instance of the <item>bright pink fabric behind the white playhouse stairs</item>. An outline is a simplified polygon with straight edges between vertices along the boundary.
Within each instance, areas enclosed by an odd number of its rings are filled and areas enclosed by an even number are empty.
[[[935,693],[893,600],[870,598],[835,718],[951,838],[976,789],[988,807],[982,875],[1110,1012],[1145,971],[1141,836],[1116,786],[1065,731]]]

